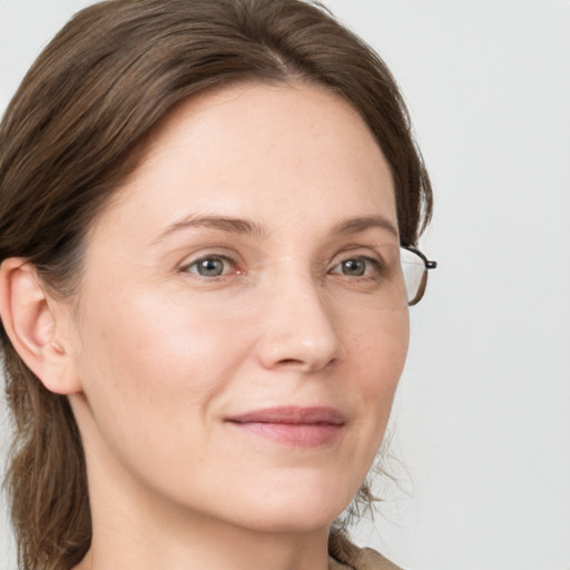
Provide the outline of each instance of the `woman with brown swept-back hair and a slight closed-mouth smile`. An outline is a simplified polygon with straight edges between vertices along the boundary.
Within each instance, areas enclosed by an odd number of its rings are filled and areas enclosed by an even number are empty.
[[[102,2],[0,145],[21,568],[395,568],[338,521],[434,266],[377,56],[297,0]]]

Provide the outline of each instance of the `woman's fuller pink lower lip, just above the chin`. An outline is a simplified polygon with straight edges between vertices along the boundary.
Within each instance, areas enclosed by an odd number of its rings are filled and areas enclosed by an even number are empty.
[[[336,424],[292,424],[230,422],[238,430],[294,448],[320,448],[341,436],[343,426]]]

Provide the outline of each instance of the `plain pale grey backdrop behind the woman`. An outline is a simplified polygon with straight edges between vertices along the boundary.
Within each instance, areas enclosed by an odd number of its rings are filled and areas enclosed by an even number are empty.
[[[80,0],[0,0],[0,111]],[[570,2],[328,0],[385,59],[435,188],[392,459],[361,544],[570,569]],[[8,429],[0,407],[2,444]],[[0,513],[0,569],[14,570]]]

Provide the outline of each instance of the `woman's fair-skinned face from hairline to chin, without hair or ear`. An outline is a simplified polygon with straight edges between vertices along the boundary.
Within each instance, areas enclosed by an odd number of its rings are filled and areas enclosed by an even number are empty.
[[[395,228],[387,163],[330,92],[240,85],[178,108],[95,223],[70,312],[94,508],[328,525],[404,364]]]

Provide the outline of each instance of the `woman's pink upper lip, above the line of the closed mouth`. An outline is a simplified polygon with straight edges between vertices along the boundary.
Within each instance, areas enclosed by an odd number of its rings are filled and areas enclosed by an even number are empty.
[[[330,424],[344,425],[344,414],[328,406],[278,406],[254,410],[227,417],[235,423],[284,423],[284,424]]]

